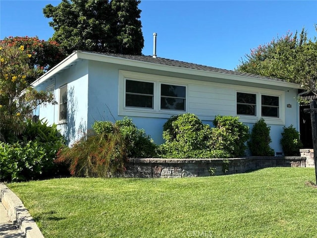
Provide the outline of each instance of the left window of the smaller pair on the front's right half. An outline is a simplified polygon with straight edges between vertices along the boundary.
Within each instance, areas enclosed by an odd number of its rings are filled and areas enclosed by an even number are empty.
[[[257,95],[237,93],[237,114],[257,116]]]

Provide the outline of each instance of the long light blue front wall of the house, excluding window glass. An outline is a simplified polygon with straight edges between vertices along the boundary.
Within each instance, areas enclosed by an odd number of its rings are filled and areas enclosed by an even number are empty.
[[[131,73],[130,73],[131,72]],[[298,105],[296,101],[297,90],[290,88],[278,88],[266,85],[262,88],[259,84],[232,85],[219,83],[216,78],[204,78],[203,81],[193,80],[192,76],[184,74],[169,74],[159,70],[151,71],[144,68],[116,65],[99,61],[89,61],[89,90],[88,90],[88,128],[95,120],[122,119],[128,116],[133,119],[139,128],[144,128],[147,134],[156,143],[163,143],[162,125],[172,115],[182,112],[159,111],[148,112],[144,110],[124,109],[123,94],[125,74],[131,74],[134,79],[141,73],[143,79],[159,82],[173,82],[187,87],[187,112],[196,114],[204,123],[212,126],[212,120],[216,115],[236,116],[236,92],[255,92],[267,95],[279,95],[282,115],[280,119],[266,118],[271,126],[271,147],[275,152],[282,152],[279,140],[282,127],[293,124],[298,129]],[[181,77],[180,77],[181,76]],[[128,76],[129,77],[129,76]],[[200,77],[200,79],[203,79]],[[226,80],[223,80],[227,82]],[[287,107],[289,105],[289,107]],[[291,105],[291,107],[290,107]],[[260,117],[240,117],[240,121],[247,124],[250,129]],[[299,130],[299,129],[298,129]]]

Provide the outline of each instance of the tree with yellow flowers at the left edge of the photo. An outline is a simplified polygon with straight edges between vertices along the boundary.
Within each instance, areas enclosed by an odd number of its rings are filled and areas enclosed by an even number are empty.
[[[37,73],[31,59],[24,45],[0,43],[0,141],[14,141],[38,105],[54,103],[53,95],[30,87]]]

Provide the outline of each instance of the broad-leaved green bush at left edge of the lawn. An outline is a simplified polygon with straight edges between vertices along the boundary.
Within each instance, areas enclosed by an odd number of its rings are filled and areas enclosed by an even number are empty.
[[[0,178],[20,181],[60,175],[61,166],[54,163],[64,139],[56,125],[26,121],[24,131],[15,143],[0,143]]]

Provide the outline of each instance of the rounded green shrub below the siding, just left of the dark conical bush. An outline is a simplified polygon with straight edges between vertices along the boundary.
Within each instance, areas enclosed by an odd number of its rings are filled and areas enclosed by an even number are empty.
[[[246,142],[250,137],[249,126],[239,121],[238,117],[216,116],[211,128],[211,146],[224,150],[230,157],[244,156]]]

